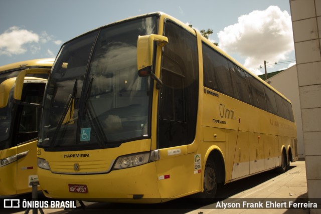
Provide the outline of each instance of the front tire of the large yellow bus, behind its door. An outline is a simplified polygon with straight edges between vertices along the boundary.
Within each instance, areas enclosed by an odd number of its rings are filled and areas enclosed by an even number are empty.
[[[204,169],[203,192],[197,193],[195,196],[201,203],[213,202],[217,190],[216,167],[213,160],[208,159]]]

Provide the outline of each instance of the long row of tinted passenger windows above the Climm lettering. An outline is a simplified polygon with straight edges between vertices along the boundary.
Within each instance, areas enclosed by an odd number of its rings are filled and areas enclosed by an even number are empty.
[[[294,122],[289,102],[205,43],[202,50],[205,87]]]

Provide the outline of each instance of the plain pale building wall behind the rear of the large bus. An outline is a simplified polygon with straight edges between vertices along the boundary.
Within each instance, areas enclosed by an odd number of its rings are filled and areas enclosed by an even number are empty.
[[[276,73],[276,74],[275,74]],[[304,141],[302,130],[301,105],[299,99],[299,87],[297,83],[296,65],[282,71],[270,73],[272,77],[266,80],[273,88],[278,90],[292,103],[297,130],[297,147],[299,158],[304,158]],[[273,74],[275,74],[273,76]],[[260,75],[261,76],[261,75]],[[263,76],[263,75],[262,75]],[[286,83],[286,84],[284,84]]]

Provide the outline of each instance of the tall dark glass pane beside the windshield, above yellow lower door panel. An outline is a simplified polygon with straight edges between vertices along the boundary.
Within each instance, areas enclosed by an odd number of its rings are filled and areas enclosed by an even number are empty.
[[[159,95],[158,148],[190,144],[195,138],[198,106],[196,37],[167,21]]]

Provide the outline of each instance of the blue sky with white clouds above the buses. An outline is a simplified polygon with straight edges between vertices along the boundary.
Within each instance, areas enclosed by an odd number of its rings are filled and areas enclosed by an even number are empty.
[[[264,60],[268,72],[295,60],[288,0],[5,0],[0,2],[0,66],[55,58],[76,36],[156,11],[199,30],[212,29],[210,40],[257,74],[264,72],[255,70]]]

